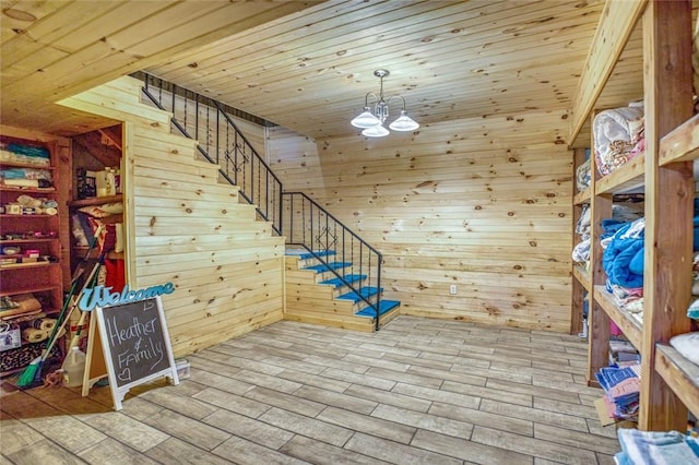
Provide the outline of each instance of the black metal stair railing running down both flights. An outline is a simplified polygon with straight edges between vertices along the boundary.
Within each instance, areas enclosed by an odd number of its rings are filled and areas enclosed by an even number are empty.
[[[256,205],[260,218],[272,224],[286,243],[299,246],[328,267],[375,313],[379,329],[382,257],[337,218],[301,192],[284,192],[281,180],[240,132],[230,115],[258,124],[265,121],[227,107],[143,71],[131,74],[144,82],[143,94],[153,105],[173,114],[171,123],[182,135],[199,141],[201,158],[217,164],[220,176],[240,188],[240,195]],[[284,213],[288,220],[283,222]],[[350,263],[335,270],[336,262]],[[354,281],[352,276],[364,276]],[[369,293],[367,289],[376,289]]]

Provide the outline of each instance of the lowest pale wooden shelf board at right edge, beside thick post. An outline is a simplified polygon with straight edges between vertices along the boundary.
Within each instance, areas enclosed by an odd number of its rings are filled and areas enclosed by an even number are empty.
[[[699,416],[699,366],[687,360],[673,346],[655,346],[655,371],[687,408]]]

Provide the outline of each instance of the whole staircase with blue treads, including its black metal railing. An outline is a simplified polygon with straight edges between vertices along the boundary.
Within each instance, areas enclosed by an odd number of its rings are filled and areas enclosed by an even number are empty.
[[[239,110],[143,72],[133,76],[154,106],[174,115],[174,128],[199,141],[200,158],[221,167],[220,181],[238,187],[286,238],[285,319],[377,331],[399,314],[399,301],[381,298],[381,254],[306,194],[283,191],[234,123]]]

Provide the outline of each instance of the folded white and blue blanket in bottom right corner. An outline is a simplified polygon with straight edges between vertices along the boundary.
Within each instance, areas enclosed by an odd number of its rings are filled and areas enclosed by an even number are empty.
[[[679,431],[657,432],[621,428],[617,434],[624,458],[619,463],[699,465],[699,441]]]

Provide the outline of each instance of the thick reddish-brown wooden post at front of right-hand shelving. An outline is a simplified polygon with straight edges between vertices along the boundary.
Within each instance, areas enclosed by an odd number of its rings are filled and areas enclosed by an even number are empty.
[[[689,119],[691,3],[652,0],[643,15],[645,257],[639,428],[684,430],[687,408],[655,371],[655,344],[689,331],[692,201],[690,163],[659,166],[660,139]]]

